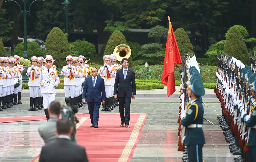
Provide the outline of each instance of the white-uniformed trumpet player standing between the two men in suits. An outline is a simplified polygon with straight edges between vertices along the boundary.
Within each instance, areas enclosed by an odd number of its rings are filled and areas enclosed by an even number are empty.
[[[102,104],[101,111],[111,111],[111,90],[112,90],[112,83],[111,83],[111,75],[115,75],[115,70],[110,66],[110,56],[105,55],[103,56],[104,65],[99,68],[98,73],[104,79],[105,82],[105,91],[106,91],[106,103]]]

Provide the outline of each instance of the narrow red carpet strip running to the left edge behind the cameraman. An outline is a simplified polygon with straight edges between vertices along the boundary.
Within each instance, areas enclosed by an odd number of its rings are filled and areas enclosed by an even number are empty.
[[[77,114],[77,118],[81,118],[85,114],[86,113]],[[37,121],[37,120],[46,120],[46,117],[44,115],[42,115],[42,116],[3,117],[3,118],[0,118],[0,123],[27,122],[27,121]]]

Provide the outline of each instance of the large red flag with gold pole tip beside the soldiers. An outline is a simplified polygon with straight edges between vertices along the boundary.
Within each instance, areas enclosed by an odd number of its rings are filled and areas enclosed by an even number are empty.
[[[175,92],[174,66],[182,63],[179,48],[174,36],[173,27],[171,26],[170,17],[169,31],[167,35],[165,47],[165,60],[163,63],[162,83],[167,86],[167,96],[169,97]]]

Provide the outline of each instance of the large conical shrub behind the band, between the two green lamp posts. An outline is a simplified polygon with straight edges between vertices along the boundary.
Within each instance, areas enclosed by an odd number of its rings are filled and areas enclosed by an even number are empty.
[[[67,37],[58,27],[54,27],[45,42],[46,54],[51,55],[57,67],[62,67],[66,63],[66,56],[72,55]]]

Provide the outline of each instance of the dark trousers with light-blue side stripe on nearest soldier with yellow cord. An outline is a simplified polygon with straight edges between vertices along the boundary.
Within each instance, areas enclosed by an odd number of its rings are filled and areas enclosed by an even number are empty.
[[[203,161],[203,145],[187,145],[187,155],[189,161],[202,162]]]

